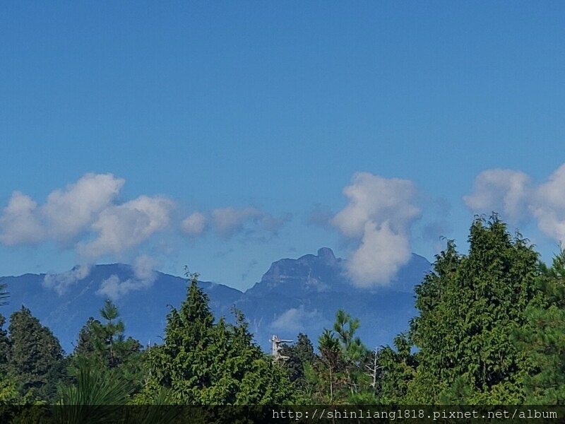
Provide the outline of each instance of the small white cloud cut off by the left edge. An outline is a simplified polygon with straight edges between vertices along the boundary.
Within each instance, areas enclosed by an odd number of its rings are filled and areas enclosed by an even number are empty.
[[[30,196],[13,192],[0,216],[0,231],[0,242],[8,246],[41,242],[45,229],[38,217],[37,203]]]

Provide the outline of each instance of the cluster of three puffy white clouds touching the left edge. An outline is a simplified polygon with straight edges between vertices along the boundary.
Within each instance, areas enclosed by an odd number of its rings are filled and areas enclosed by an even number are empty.
[[[118,203],[124,179],[89,173],[56,189],[41,206],[14,192],[0,216],[0,242],[37,245],[54,240],[74,245],[85,261],[140,245],[165,228],[174,202],[161,196],[139,196]],[[83,239],[95,236],[94,240]]]

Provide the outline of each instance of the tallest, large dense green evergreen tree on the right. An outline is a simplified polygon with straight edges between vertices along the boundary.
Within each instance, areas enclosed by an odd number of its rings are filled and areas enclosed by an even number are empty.
[[[420,316],[410,337],[420,348],[411,403],[521,404],[525,354],[511,340],[537,297],[537,254],[493,216],[477,218],[468,256],[453,242],[416,289]],[[464,399],[463,399],[464,398]]]

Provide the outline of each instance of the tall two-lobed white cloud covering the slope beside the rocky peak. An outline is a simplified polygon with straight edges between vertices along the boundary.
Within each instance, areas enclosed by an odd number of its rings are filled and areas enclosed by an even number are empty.
[[[349,204],[331,223],[359,240],[345,265],[353,283],[363,287],[391,281],[410,259],[410,226],[420,216],[412,204],[415,186],[407,179],[387,179],[358,172],[343,189]]]

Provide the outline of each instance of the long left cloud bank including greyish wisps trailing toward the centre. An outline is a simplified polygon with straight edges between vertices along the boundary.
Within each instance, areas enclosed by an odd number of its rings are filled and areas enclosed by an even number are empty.
[[[290,220],[290,215],[275,217],[251,206],[195,211],[179,219],[174,213],[177,202],[166,196],[144,194],[121,200],[124,184],[125,179],[112,174],[88,173],[53,190],[43,204],[22,192],[13,192],[0,211],[0,243],[33,246],[55,242],[63,249],[74,249],[83,264],[93,264],[102,257],[132,257],[153,235],[165,231],[170,236],[180,230],[194,238],[209,229],[222,240],[241,236],[261,241],[277,235]],[[54,290],[65,290],[73,279],[76,281],[73,276],[51,276],[46,284]],[[108,281],[106,286],[114,296],[129,290],[124,282]]]

